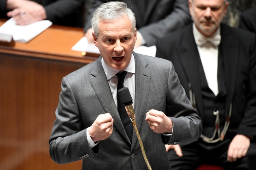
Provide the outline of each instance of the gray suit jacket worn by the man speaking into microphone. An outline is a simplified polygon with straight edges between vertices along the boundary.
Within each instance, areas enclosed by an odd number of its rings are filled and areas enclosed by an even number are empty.
[[[202,124],[179,83],[171,62],[137,53],[135,115],[152,169],[170,169],[165,144],[188,144],[199,138]],[[145,121],[150,109],[174,122],[171,137],[154,133]],[[91,149],[86,130],[100,114],[110,113],[113,133]],[[175,116],[175,117],[174,117]],[[59,164],[83,159],[82,169],[148,169],[136,133],[128,139],[113,100],[101,57],[63,78],[56,120],[49,140],[50,156]],[[82,157],[87,155],[86,158]]]

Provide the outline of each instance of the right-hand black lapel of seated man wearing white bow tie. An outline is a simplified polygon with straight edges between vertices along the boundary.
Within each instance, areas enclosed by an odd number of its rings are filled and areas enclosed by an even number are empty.
[[[221,43],[219,50],[223,53],[223,62],[225,69],[225,83],[228,90],[226,98],[226,113],[234,94],[236,84],[236,76],[239,64],[239,41],[232,37],[228,26],[221,24]]]

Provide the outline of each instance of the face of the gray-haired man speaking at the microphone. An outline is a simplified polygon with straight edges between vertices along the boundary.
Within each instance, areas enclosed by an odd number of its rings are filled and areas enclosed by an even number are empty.
[[[106,62],[115,70],[124,70],[130,63],[137,33],[130,19],[124,15],[115,20],[100,20],[98,38],[93,33],[96,47]]]

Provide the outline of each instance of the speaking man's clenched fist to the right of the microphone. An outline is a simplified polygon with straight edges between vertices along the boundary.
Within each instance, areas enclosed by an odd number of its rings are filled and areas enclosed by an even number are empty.
[[[173,122],[163,112],[158,110],[149,110],[146,121],[155,133],[171,133]]]

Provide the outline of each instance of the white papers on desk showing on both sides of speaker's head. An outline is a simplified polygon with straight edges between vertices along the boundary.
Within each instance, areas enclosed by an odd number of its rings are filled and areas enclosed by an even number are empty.
[[[87,53],[95,53],[100,54],[98,47],[96,47],[93,43],[88,43],[86,37],[82,37],[72,48],[74,51],[85,51]],[[134,49],[136,53],[149,55],[149,56],[156,56],[156,46],[153,45],[151,47],[140,46]]]

